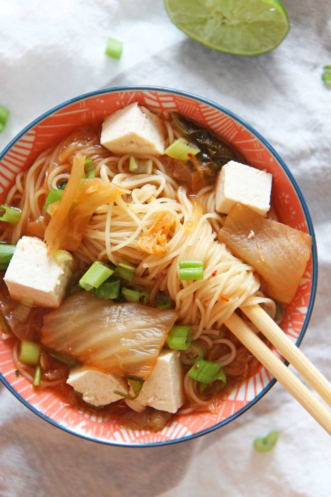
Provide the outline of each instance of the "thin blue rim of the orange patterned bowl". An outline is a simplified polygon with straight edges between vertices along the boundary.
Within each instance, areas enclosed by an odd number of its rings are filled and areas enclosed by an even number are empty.
[[[316,297],[316,288],[317,288],[317,275],[318,275],[317,245],[316,245],[316,237],[315,237],[315,232],[314,232],[312,218],[311,218],[311,215],[309,213],[309,209],[308,209],[308,206],[306,204],[306,201],[305,201],[305,199],[303,197],[303,194],[302,194],[302,192],[300,190],[300,187],[299,187],[298,183],[296,182],[296,180],[294,179],[294,177],[293,177],[292,173],[290,172],[289,168],[286,166],[285,162],[281,159],[281,157],[277,154],[277,152],[273,149],[273,147],[267,142],[267,140],[265,140],[265,138],[258,131],[256,131],[244,119],[242,119],[241,117],[237,116],[237,114],[235,114],[234,112],[231,112],[230,110],[226,109],[222,105],[219,105],[219,104],[213,102],[212,100],[209,100],[208,98],[201,97],[199,95],[196,95],[194,93],[190,93],[188,91],[174,89],[174,88],[168,88],[168,87],[165,87],[165,86],[145,86],[145,85],[137,85],[137,86],[135,86],[135,85],[133,85],[133,86],[112,86],[112,87],[108,87],[108,88],[102,88],[102,89],[99,89],[99,90],[95,90],[95,91],[90,91],[88,93],[84,93],[82,95],[78,95],[78,96],[76,96],[74,98],[70,98],[69,100],[66,100],[63,103],[61,103],[59,105],[56,105],[52,109],[48,110],[44,114],[41,114],[39,117],[37,117],[36,119],[34,119],[30,124],[28,124],[27,126],[25,126],[25,128],[20,133],[18,133],[9,142],[9,144],[3,149],[3,151],[0,154],[0,161],[6,155],[6,153],[8,152],[8,150],[27,131],[29,131],[31,128],[33,128],[35,125],[37,125],[40,121],[42,121],[43,119],[45,119],[49,115],[53,114],[54,112],[56,112],[56,111],[58,111],[60,109],[63,109],[67,105],[69,105],[71,103],[74,103],[74,102],[77,102],[79,100],[84,100],[86,98],[89,98],[89,97],[92,97],[92,96],[95,96],[95,95],[101,95],[103,93],[114,93],[114,92],[118,92],[118,91],[160,91],[160,92],[167,92],[167,93],[173,93],[173,94],[176,94],[176,95],[185,96],[185,97],[188,97],[188,98],[192,98],[194,100],[198,100],[199,102],[205,103],[205,104],[207,104],[207,105],[209,105],[209,106],[211,106],[211,107],[213,107],[213,108],[215,108],[217,110],[220,110],[221,112],[223,112],[224,114],[228,115],[229,117],[231,117],[232,119],[234,119],[235,121],[237,121],[238,123],[240,123],[242,126],[244,126],[245,128],[247,128],[254,136],[256,136],[263,143],[263,145],[265,146],[265,148],[268,149],[268,151],[273,155],[273,157],[276,159],[276,161],[283,168],[284,172],[286,173],[289,181],[291,182],[291,184],[292,184],[292,186],[293,186],[293,188],[294,188],[294,190],[295,190],[295,192],[296,192],[296,194],[298,196],[298,199],[300,201],[301,207],[302,207],[303,212],[305,214],[305,218],[306,218],[306,222],[307,222],[307,226],[308,226],[308,231],[309,231],[309,233],[310,233],[310,235],[312,237],[312,262],[313,262],[313,266],[312,266],[312,289],[311,289],[311,294],[310,294],[310,299],[309,299],[309,304],[308,304],[308,308],[307,308],[307,314],[306,314],[306,317],[305,317],[305,321],[304,321],[304,323],[302,325],[302,329],[300,331],[300,334],[299,334],[299,336],[298,336],[298,338],[297,338],[297,340],[295,342],[296,345],[299,346],[301,344],[301,342],[302,342],[302,339],[303,339],[306,331],[307,331],[307,327],[308,327],[308,324],[309,324],[309,321],[310,321],[310,318],[311,318],[311,314],[312,314],[312,311],[313,311],[313,307],[314,307],[314,302],[315,302],[315,297]],[[287,361],[285,361],[284,363],[285,363],[286,366],[288,366],[288,362]],[[158,447],[158,446],[163,446],[163,445],[172,445],[172,444],[175,444],[175,443],[180,443],[180,442],[184,442],[184,441],[187,441],[187,440],[192,440],[194,438],[198,438],[199,436],[205,435],[207,433],[211,433],[212,431],[220,428],[221,426],[225,426],[226,424],[230,423],[231,421],[233,421],[234,419],[236,419],[237,417],[241,416],[246,411],[248,411],[260,399],[262,399],[262,397],[264,397],[265,394],[276,383],[276,380],[274,378],[272,378],[269,381],[269,383],[265,386],[265,388],[252,401],[250,401],[246,406],[244,406],[242,409],[240,409],[236,413],[232,414],[231,416],[227,417],[226,419],[223,419],[222,421],[214,424],[213,426],[210,426],[209,428],[206,428],[206,429],[204,429],[202,431],[198,431],[197,433],[192,433],[191,435],[188,435],[188,436],[185,436],[185,437],[182,437],[182,438],[179,438],[179,439],[175,439],[175,440],[164,440],[164,441],[161,441],[161,442],[139,443],[139,444],[122,444],[122,443],[115,443],[113,441],[99,440],[97,438],[93,438],[93,437],[90,437],[90,436],[87,436],[87,435],[83,435],[81,433],[76,433],[75,431],[70,430],[66,426],[63,426],[63,425],[59,424],[58,422],[56,422],[53,419],[51,419],[50,417],[46,416],[42,412],[38,411],[31,404],[29,404],[29,402],[27,402],[25,399],[23,399],[23,397],[21,397],[19,395],[19,393],[16,392],[16,390],[10,385],[9,382],[7,382],[7,380],[2,376],[1,373],[0,373],[0,380],[4,384],[4,386],[25,407],[27,407],[30,411],[32,411],[33,413],[37,414],[39,417],[41,417],[45,421],[48,421],[53,426],[56,426],[56,427],[58,427],[58,428],[60,428],[60,429],[62,429],[64,431],[66,431],[67,433],[70,433],[72,435],[78,436],[78,437],[83,438],[85,440],[90,440],[92,442],[102,443],[102,444],[105,444],[105,445],[112,445],[112,446],[117,446],[117,447],[130,447],[130,448],[133,448],[133,447],[140,447],[140,448],[141,447]]]

